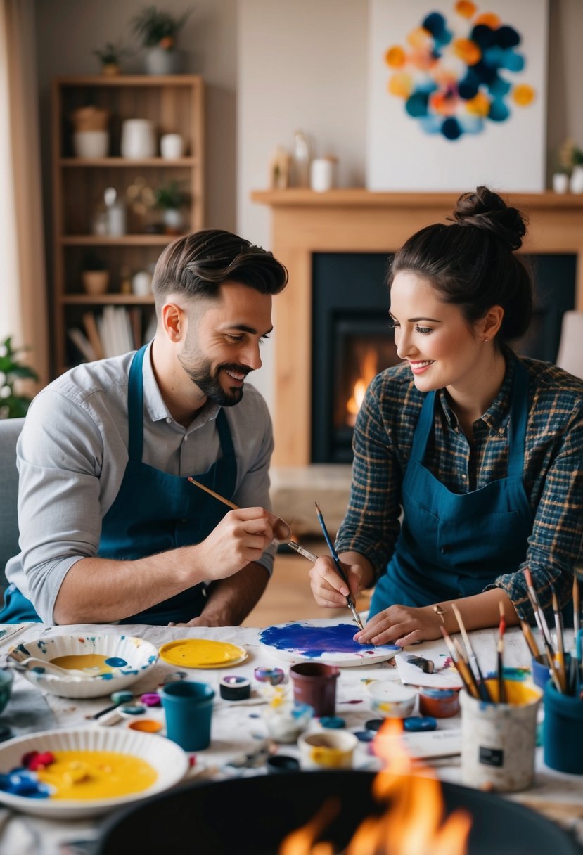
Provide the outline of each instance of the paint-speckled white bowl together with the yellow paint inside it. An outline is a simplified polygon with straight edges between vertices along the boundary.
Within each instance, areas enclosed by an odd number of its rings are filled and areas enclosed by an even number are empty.
[[[32,659],[30,665],[27,659]],[[7,656],[9,663],[21,665],[26,680],[62,698],[99,698],[127,688],[157,659],[150,641],[114,634],[47,635],[11,647]],[[58,665],[64,673],[51,673],[44,662]]]

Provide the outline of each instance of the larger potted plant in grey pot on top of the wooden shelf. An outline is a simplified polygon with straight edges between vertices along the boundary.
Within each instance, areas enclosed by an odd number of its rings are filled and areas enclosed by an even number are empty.
[[[192,9],[175,18],[169,12],[146,6],[133,20],[133,32],[145,48],[146,74],[176,74],[180,55],[176,50],[176,36]]]

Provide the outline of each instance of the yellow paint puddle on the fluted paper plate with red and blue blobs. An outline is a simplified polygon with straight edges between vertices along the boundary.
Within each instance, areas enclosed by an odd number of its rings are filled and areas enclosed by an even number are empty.
[[[114,799],[141,793],[156,781],[153,766],[132,754],[57,751],[55,763],[38,769],[38,778],[55,787],[51,799]]]

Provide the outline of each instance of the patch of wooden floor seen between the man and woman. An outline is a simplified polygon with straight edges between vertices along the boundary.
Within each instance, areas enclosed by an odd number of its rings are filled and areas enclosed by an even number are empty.
[[[327,553],[324,540],[305,540],[302,545],[316,555]],[[295,552],[278,552],[275,556],[274,575],[267,591],[245,618],[243,626],[270,627],[274,623],[301,621],[312,617],[346,616],[345,609],[321,609],[315,603],[309,587],[308,574],[311,566],[306,558]],[[359,609],[362,608],[360,602],[357,605]],[[366,607],[368,608],[368,603]]]

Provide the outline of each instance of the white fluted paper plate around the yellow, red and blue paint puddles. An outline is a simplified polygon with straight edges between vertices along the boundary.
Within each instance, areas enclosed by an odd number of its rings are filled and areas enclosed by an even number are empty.
[[[0,745],[0,773],[21,766],[23,754],[32,751],[101,751],[131,754],[156,769],[157,778],[150,787],[139,793],[115,796],[112,799],[31,799],[0,790],[0,803],[15,811],[31,813],[50,819],[95,817],[109,813],[121,805],[137,799],[146,799],[174,787],[188,770],[188,758],[175,742],[163,736],[139,733],[135,730],[115,728],[79,728],[78,730],[45,730],[27,734]]]

